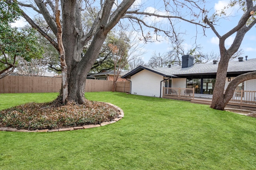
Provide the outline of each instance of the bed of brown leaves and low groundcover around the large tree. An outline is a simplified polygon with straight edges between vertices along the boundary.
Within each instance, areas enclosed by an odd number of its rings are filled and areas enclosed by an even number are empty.
[[[101,102],[86,104],[28,103],[0,111],[0,127],[58,129],[113,121],[118,109]]]

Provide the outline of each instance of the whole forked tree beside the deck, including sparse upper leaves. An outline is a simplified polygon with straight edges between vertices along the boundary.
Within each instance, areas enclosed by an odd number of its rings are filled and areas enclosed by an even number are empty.
[[[220,48],[220,61],[218,64],[218,70],[216,75],[216,83],[214,87],[214,92],[212,96],[212,104],[210,107],[214,109],[224,110],[224,107],[228,104],[230,99],[233,96],[233,92],[238,86],[238,84],[244,82],[245,80],[255,79],[256,72],[250,72],[246,74],[242,74],[234,78],[226,88],[225,81],[228,69],[228,61],[230,58],[239,50],[242,40],[245,34],[254,27],[256,24],[255,16],[256,16],[256,1],[255,0],[242,0],[242,1],[231,1],[230,4],[225,8],[232,8],[234,5],[238,4],[240,6],[240,10],[244,12],[237,25],[230,29],[224,35],[220,35],[217,29],[214,27],[216,22],[216,17],[219,16],[215,14],[211,18],[205,16],[204,22],[207,23],[215,35],[219,38],[219,48]],[[220,13],[222,15],[224,12]],[[225,40],[231,35],[236,35],[232,45],[229,48],[225,47]]]

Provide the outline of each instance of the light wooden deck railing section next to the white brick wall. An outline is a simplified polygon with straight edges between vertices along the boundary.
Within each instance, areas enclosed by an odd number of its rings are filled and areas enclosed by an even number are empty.
[[[163,87],[163,96],[175,96],[179,98],[193,98],[195,88],[167,88]]]

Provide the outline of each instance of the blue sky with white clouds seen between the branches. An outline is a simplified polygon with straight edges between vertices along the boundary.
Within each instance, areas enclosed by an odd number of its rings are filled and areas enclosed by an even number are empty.
[[[206,9],[211,9],[210,14],[212,14],[216,10],[221,10],[224,6],[228,4],[228,2],[229,0],[210,0],[206,3]],[[156,9],[155,7],[162,5],[158,0],[155,0],[155,1],[136,0],[136,2],[134,3],[134,5],[140,5],[140,4],[143,4],[144,8],[142,10],[148,11],[148,12],[154,12]],[[166,13],[164,11],[158,10],[158,14],[166,14]],[[232,29],[234,25],[238,23],[238,20],[242,15],[241,12],[238,12],[238,7],[228,9],[226,11],[226,14],[229,14],[232,17],[228,19],[222,19],[220,20],[220,22],[218,22],[218,25],[216,26],[216,30],[220,33],[220,35],[223,35],[227,31]],[[156,18],[149,17],[146,19],[146,21],[147,20],[149,21],[151,19],[156,19]],[[158,18],[157,20],[160,20],[161,22],[166,22],[166,20],[164,19]],[[20,20],[16,21],[16,23],[12,23],[12,26],[22,27],[26,24],[27,22],[25,21],[25,19],[21,18]],[[147,29],[145,30],[147,31]],[[206,29],[206,32],[205,32],[206,35],[203,35],[203,34],[200,34],[200,32],[202,32],[202,29],[200,27],[196,27],[193,24],[189,24],[189,23],[186,23],[185,21],[182,21],[180,23],[180,30],[186,31],[186,35],[182,37],[185,40],[182,43],[185,51],[194,47],[193,45],[195,43],[196,31],[198,31],[199,33],[197,34],[196,43],[197,45],[200,45],[202,47],[202,52],[210,53],[214,51],[214,53],[219,53],[218,37],[213,33],[211,29]],[[151,33],[151,35],[153,35],[153,33]],[[137,36],[137,34],[135,33],[134,36]],[[232,44],[234,40],[234,36],[235,35],[232,35],[226,40],[225,42],[226,47],[229,47]],[[158,41],[158,42],[144,44],[144,47],[142,49],[142,52],[144,53],[142,55],[142,59],[144,60],[144,62],[147,63],[150,57],[154,55],[154,53],[156,54],[160,53],[162,55],[170,51],[171,45],[168,44],[168,40],[166,40],[164,37],[160,37],[160,40],[161,41]],[[245,57],[247,55],[248,59],[256,58],[255,26],[250,31],[248,31],[248,33],[246,33],[240,48],[244,51],[244,54],[242,57]]]

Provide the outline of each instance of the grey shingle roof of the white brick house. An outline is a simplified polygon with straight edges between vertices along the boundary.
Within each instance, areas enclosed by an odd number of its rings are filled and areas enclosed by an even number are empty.
[[[145,66],[138,66],[131,72],[122,76],[122,78],[130,78],[132,75],[140,72],[141,70],[149,70],[160,74],[164,77],[175,77],[175,76],[188,76],[188,75],[202,75],[202,74],[216,74],[218,69],[218,63],[204,63],[204,64],[194,64],[187,68],[182,68],[182,66],[171,66],[171,67],[159,67],[159,68],[148,68]],[[243,74],[246,72],[256,71],[256,59],[248,59],[247,61],[230,61],[228,63],[228,74]]]

